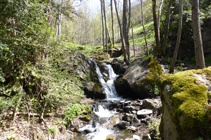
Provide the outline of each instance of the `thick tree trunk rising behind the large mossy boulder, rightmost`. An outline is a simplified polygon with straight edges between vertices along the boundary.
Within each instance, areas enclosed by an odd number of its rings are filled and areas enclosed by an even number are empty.
[[[195,46],[196,67],[205,68],[204,51],[199,19],[199,0],[192,0],[193,39]]]

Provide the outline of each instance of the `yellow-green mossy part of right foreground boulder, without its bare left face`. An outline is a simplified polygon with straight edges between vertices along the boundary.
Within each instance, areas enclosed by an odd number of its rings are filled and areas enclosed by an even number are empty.
[[[208,98],[211,97],[208,92],[210,76],[211,67],[208,67],[165,74],[157,79],[160,91],[163,91],[166,85],[171,85],[168,100],[171,100],[179,135],[192,133],[206,139],[211,138],[211,106],[208,104]]]

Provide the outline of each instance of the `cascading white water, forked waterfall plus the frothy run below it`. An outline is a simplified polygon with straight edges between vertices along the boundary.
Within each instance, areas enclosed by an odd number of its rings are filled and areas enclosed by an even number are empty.
[[[119,97],[115,86],[114,80],[118,77],[113,71],[111,65],[103,63],[103,65],[108,69],[108,80],[105,81],[103,75],[98,67],[97,63],[92,60],[95,64],[96,73],[98,75],[99,82],[102,86],[104,93],[106,94],[106,101],[117,101],[123,100],[123,98]],[[110,111],[107,109],[108,104],[99,103],[98,105],[94,106],[93,112],[93,120],[90,121],[88,125],[79,129],[84,135],[82,136],[83,140],[105,140],[108,135],[114,135],[117,137],[123,135],[131,135],[126,134],[124,132],[120,132],[115,130],[114,128],[108,129],[109,124],[114,123],[111,117],[114,114],[117,114],[115,111]],[[81,140],[81,139],[80,139]]]

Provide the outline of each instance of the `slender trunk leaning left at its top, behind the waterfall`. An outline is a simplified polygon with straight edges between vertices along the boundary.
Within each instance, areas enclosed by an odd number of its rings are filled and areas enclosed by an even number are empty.
[[[114,4],[115,4],[116,15],[117,15],[118,24],[119,24],[119,32],[120,32],[121,41],[122,41],[122,52],[124,53],[124,61],[126,61],[127,57],[126,57],[126,53],[125,53],[125,39],[124,39],[123,33],[122,33],[122,27],[121,27],[121,23],[120,23],[120,18],[119,18],[119,13],[118,13],[118,9],[117,9],[116,0],[114,0]]]

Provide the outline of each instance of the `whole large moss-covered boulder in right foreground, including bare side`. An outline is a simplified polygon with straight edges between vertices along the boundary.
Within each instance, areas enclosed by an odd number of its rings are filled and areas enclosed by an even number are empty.
[[[162,139],[210,140],[211,67],[165,74],[156,83],[162,100]]]

